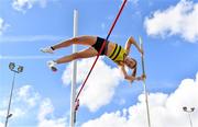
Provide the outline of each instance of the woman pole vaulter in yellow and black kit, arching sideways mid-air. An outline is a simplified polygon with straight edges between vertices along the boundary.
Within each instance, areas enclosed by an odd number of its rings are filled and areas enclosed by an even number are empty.
[[[56,60],[47,61],[47,66],[53,71],[56,71],[57,70],[56,66],[59,64],[66,64],[75,59],[90,58],[97,56],[103,43],[105,43],[105,38],[98,36],[85,35],[85,36],[73,37],[57,45],[42,48],[41,51],[53,54],[55,50],[72,46],[73,44],[89,46],[85,50],[62,57]],[[117,43],[107,41],[105,48],[100,55],[100,56],[105,55],[109,57],[112,61],[114,61],[120,68],[121,72],[123,73],[124,79],[130,82],[133,82],[134,80],[140,81],[143,80],[143,78],[145,78],[145,76],[136,77],[138,62],[135,59],[129,57],[130,48],[132,45],[134,45],[135,48],[139,50],[139,53],[143,55],[143,50],[139,47],[139,45],[136,44],[133,37],[129,37],[129,39],[125,43],[125,48],[118,45]],[[132,74],[127,73],[125,67],[129,67],[132,70]]]

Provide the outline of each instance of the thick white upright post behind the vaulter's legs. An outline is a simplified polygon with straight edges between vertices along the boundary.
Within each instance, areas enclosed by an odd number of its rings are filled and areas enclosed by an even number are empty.
[[[78,11],[74,10],[74,37],[78,33]],[[77,51],[76,45],[73,45],[73,54]],[[70,127],[75,127],[75,97],[76,97],[76,73],[77,73],[77,61],[73,61],[72,72],[72,91],[70,91]]]

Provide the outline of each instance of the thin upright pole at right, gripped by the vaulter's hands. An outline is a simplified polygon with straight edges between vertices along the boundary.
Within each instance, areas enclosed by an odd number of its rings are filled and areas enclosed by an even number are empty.
[[[143,44],[142,44],[142,37],[139,37],[141,49],[143,50]],[[142,60],[142,73],[145,74],[145,68],[144,68],[144,55],[141,56]],[[146,113],[147,113],[147,126],[151,127],[151,120],[150,120],[150,106],[148,106],[148,100],[147,100],[147,89],[145,83],[145,78],[143,79],[143,85],[144,85],[144,95],[145,95],[145,104],[146,104]]]

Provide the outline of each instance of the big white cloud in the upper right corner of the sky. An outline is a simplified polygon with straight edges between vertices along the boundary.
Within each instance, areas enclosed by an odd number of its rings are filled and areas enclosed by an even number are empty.
[[[175,7],[155,11],[144,21],[148,35],[180,35],[188,42],[198,41],[198,3],[180,0]]]

